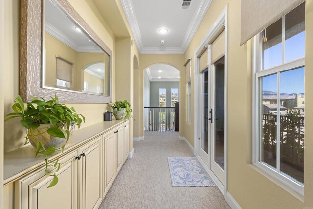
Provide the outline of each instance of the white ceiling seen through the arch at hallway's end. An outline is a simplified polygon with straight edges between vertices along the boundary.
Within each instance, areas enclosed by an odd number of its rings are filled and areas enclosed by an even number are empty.
[[[166,64],[156,64],[147,70],[150,81],[179,81],[179,70]]]

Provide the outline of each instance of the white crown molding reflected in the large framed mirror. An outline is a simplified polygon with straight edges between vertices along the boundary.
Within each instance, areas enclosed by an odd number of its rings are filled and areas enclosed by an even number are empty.
[[[73,42],[67,35],[62,33],[60,30],[58,30],[48,22],[45,22],[45,31],[77,52],[104,53],[102,50],[92,46],[79,46],[77,43]]]

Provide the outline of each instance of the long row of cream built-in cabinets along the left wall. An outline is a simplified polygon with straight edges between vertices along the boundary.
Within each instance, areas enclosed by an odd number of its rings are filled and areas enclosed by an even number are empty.
[[[61,162],[57,185],[47,188],[53,177],[42,164],[12,181],[14,209],[97,209],[129,155],[129,121],[115,124],[53,157]]]

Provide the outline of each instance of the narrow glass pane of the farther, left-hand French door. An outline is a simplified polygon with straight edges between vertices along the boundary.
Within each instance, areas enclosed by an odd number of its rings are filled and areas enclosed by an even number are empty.
[[[209,71],[203,73],[203,137],[201,138],[201,148],[209,153]]]

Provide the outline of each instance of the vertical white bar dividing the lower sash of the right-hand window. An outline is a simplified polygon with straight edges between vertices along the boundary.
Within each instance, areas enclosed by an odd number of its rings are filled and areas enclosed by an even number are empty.
[[[277,73],[276,171],[280,172],[280,72]]]

